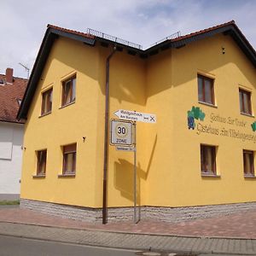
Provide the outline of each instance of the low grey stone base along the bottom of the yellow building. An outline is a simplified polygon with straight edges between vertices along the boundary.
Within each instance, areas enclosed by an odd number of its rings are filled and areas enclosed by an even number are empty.
[[[36,210],[61,218],[102,223],[102,208],[74,207],[44,201],[20,199],[20,208]],[[256,210],[256,202],[233,203],[203,207],[137,207],[137,219],[153,219],[166,222],[181,222],[196,218],[211,218],[218,215]],[[133,207],[108,208],[108,223],[132,221]]]

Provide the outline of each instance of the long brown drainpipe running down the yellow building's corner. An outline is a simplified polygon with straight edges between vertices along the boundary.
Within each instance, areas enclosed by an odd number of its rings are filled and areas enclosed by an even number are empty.
[[[103,166],[103,202],[102,224],[107,224],[107,177],[108,177],[108,121],[109,121],[109,61],[116,51],[116,46],[108,55],[106,61],[106,100],[105,100],[105,136],[104,136],[104,166]]]

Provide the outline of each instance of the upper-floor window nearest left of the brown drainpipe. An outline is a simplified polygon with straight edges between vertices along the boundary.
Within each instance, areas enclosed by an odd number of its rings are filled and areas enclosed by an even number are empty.
[[[74,102],[76,99],[76,77],[62,82],[62,102],[61,106]]]

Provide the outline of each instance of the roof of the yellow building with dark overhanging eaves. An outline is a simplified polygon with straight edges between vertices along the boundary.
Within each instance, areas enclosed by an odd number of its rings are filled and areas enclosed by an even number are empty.
[[[185,44],[189,44],[190,42],[195,42],[196,40],[200,40],[201,38],[207,38],[218,33],[226,33],[227,35],[230,35],[230,37],[232,37],[235,40],[236,44],[240,47],[243,53],[247,55],[248,60],[252,62],[254,67],[256,67],[255,49],[253,49],[253,46],[247,41],[247,38],[242,34],[241,30],[236,26],[236,23],[234,20],[220,24],[218,26],[212,26],[210,28],[207,28],[198,32],[193,32],[179,38],[174,38],[169,40],[167,39],[166,41],[161,42],[160,44],[156,44],[145,50],[136,49],[131,46],[127,46],[123,43],[119,43],[119,42],[116,43],[115,41],[114,42],[115,44],[121,44],[121,48],[125,48],[125,47],[133,48],[133,50],[135,51],[135,54],[139,54],[142,58],[147,58],[150,55],[157,54],[160,50],[164,50],[168,48],[178,48]],[[27,112],[32,102],[32,97],[34,96],[34,93],[37,89],[38,80],[40,79],[40,75],[43,72],[45,62],[48,58],[49,50],[51,49],[52,45],[55,42],[55,35],[60,35],[61,37],[72,38],[74,40],[83,41],[84,44],[89,44],[90,46],[95,45],[95,42],[97,41],[97,39],[101,38],[101,37],[93,36],[84,32],[77,32],[77,31],[70,30],[67,28],[62,28],[59,26],[48,25],[48,29],[45,32],[43,42],[38,52],[37,60],[35,61],[34,67],[32,69],[32,74],[29,80],[28,88],[26,90],[24,101],[22,102],[20,106],[20,110],[18,112],[18,116],[20,118],[26,119]],[[81,40],[81,38],[83,40]],[[104,40],[111,41],[111,39],[102,38],[102,43],[104,43]],[[129,51],[128,51],[128,54],[130,54]]]

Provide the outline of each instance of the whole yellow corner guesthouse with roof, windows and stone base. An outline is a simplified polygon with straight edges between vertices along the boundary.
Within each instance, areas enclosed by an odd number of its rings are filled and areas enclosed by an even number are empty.
[[[137,122],[141,218],[255,208],[255,67],[233,20],[145,50],[49,25],[18,114],[26,119],[21,207],[131,218],[134,154],[109,144],[110,120],[125,109],[157,117]]]

